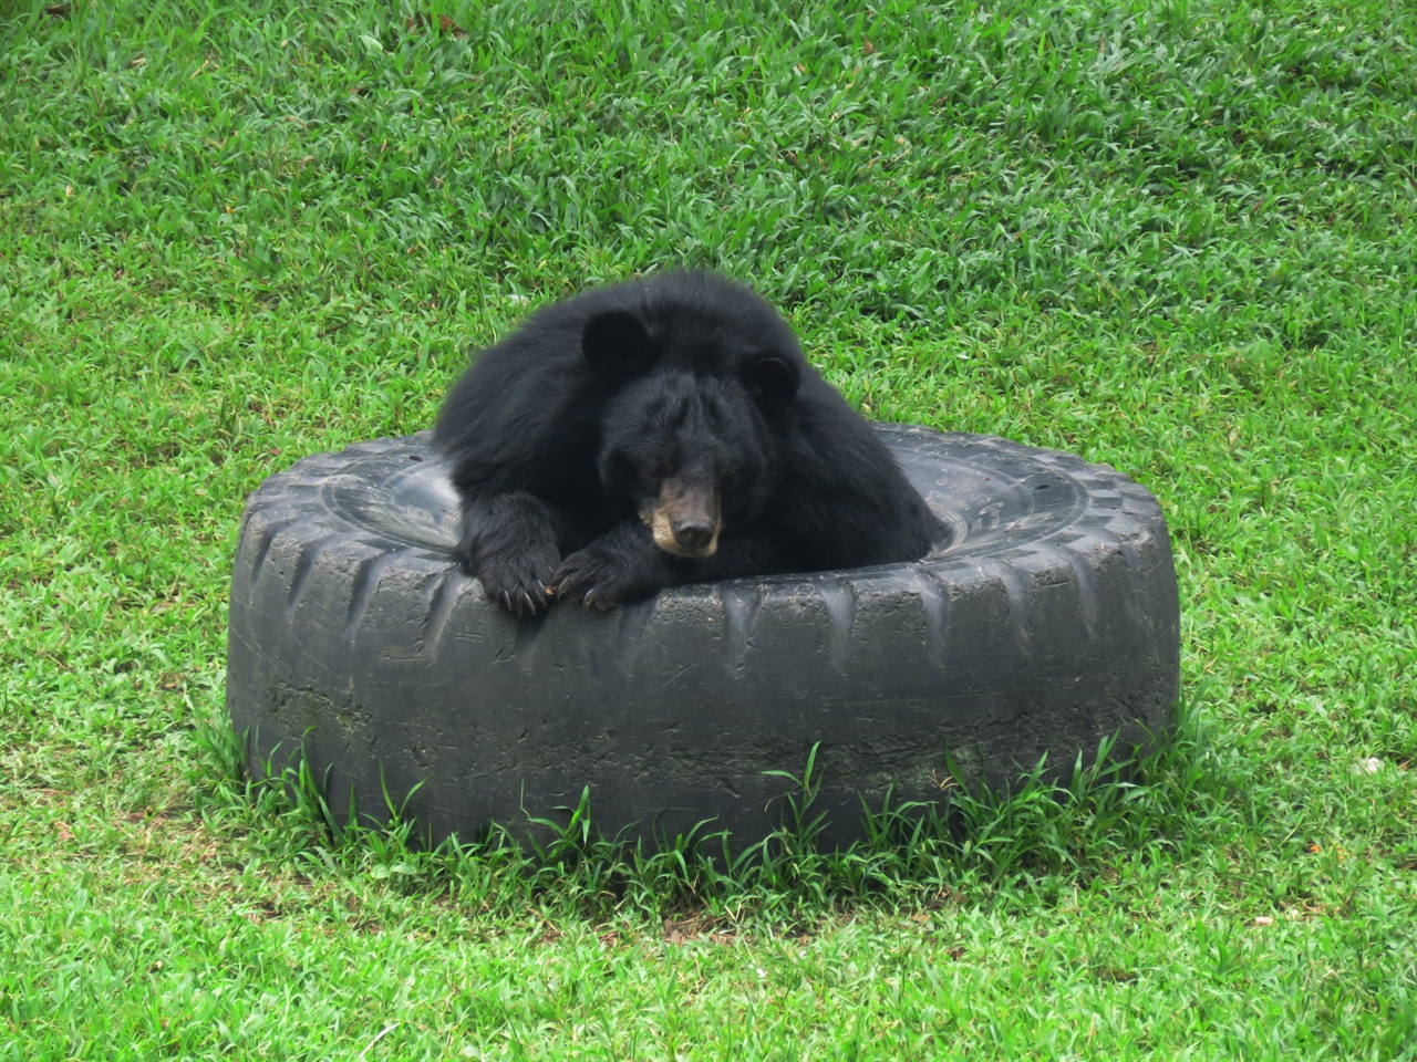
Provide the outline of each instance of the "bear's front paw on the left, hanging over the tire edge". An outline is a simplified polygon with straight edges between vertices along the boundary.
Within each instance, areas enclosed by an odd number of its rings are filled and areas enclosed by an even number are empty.
[[[462,539],[453,552],[463,569],[482,581],[487,600],[519,616],[533,615],[547,606],[561,561],[561,523],[555,510],[533,494],[469,498],[462,507]]]

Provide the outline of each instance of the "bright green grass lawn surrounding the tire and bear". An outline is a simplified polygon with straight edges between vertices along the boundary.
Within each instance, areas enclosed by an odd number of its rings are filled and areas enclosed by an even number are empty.
[[[0,3],[0,1059],[1417,1058],[1417,16],[842,7]],[[242,779],[244,496],[674,262],[1146,483],[1176,745],[738,865]]]

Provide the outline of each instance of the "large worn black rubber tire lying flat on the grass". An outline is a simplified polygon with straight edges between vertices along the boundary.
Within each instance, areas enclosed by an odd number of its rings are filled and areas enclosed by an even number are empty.
[[[611,613],[490,606],[451,562],[428,433],[317,455],[248,500],[227,705],[249,769],[303,755],[334,813],[463,840],[565,820],[615,835],[710,820],[752,843],[813,745],[823,841],[934,800],[951,762],[1006,784],[1117,735],[1165,735],[1179,683],[1166,525],[1080,457],[880,425],[947,534],[922,561],[666,590]],[[830,534],[822,528],[822,534]]]

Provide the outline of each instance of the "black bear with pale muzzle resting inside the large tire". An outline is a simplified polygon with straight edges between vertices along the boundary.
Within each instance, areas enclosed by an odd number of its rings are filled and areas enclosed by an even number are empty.
[[[456,556],[516,613],[913,561],[937,532],[786,321],[713,273],[536,313],[453,385],[434,440],[462,498]]]

